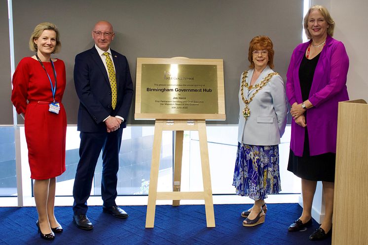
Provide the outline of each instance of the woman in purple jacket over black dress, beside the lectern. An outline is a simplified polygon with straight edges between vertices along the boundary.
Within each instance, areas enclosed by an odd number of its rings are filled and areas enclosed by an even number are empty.
[[[325,195],[326,215],[310,240],[331,235],[337,106],[349,100],[349,58],[344,44],[332,38],[334,25],[324,6],[311,7],[303,21],[310,40],[294,49],[287,72],[286,94],[293,116],[288,170],[301,178],[303,197],[303,212],[289,231],[312,224],[317,181],[322,181]]]

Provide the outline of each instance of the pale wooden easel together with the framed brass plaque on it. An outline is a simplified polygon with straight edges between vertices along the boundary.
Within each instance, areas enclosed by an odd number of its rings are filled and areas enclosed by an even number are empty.
[[[153,69],[152,65],[160,66],[155,66]],[[155,72],[152,70],[148,71],[149,69],[144,70],[143,67],[145,67],[145,69],[151,67],[151,69],[155,70]],[[186,67],[186,69],[181,70],[183,67]],[[198,73],[194,69],[195,67],[207,69],[205,75]],[[143,74],[146,74],[144,79],[142,79]],[[166,76],[171,76],[172,74],[176,74],[173,76],[176,78],[174,80],[171,78],[167,79]],[[177,79],[178,77],[188,78],[191,82],[188,83],[187,79]],[[186,91],[185,89],[179,90],[179,86],[182,85],[185,85],[183,88],[190,90],[193,89],[193,91]],[[152,96],[151,93],[156,93],[157,91],[160,91],[162,94],[160,93],[156,94],[157,96]],[[209,97],[203,97],[201,94],[198,94],[208,92],[214,93]],[[198,103],[192,102],[195,100],[197,100]],[[211,110],[210,108],[214,108],[212,105],[216,104],[218,109]],[[144,105],[144,108],[142,105]],[[207,227],[215,227],[205,120],[226,119],[223,85],[223,61],[221,59],[188,59],[185,57],[175,57],[171,59],[137,58],[136,105],[134,116],[136,120],[156,120],[153,136],[146,228],[153,228],[154,226],[156,200],[173,200],[173,206],[179,206],[180,200],[204,200]],[[168,118],[171,120],[168,120]],[[157,192],[162,131],[164,130],[176,131],[174,182],[173,191],[171,192]],[[198,131],[202,164],[203,191],[180,191],[184,130]]]

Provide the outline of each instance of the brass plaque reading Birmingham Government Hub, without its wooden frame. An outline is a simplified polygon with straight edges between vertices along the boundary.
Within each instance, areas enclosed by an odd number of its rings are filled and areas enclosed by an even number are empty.
[[[217,66],[142,64],[141,113],[218,114]]]

